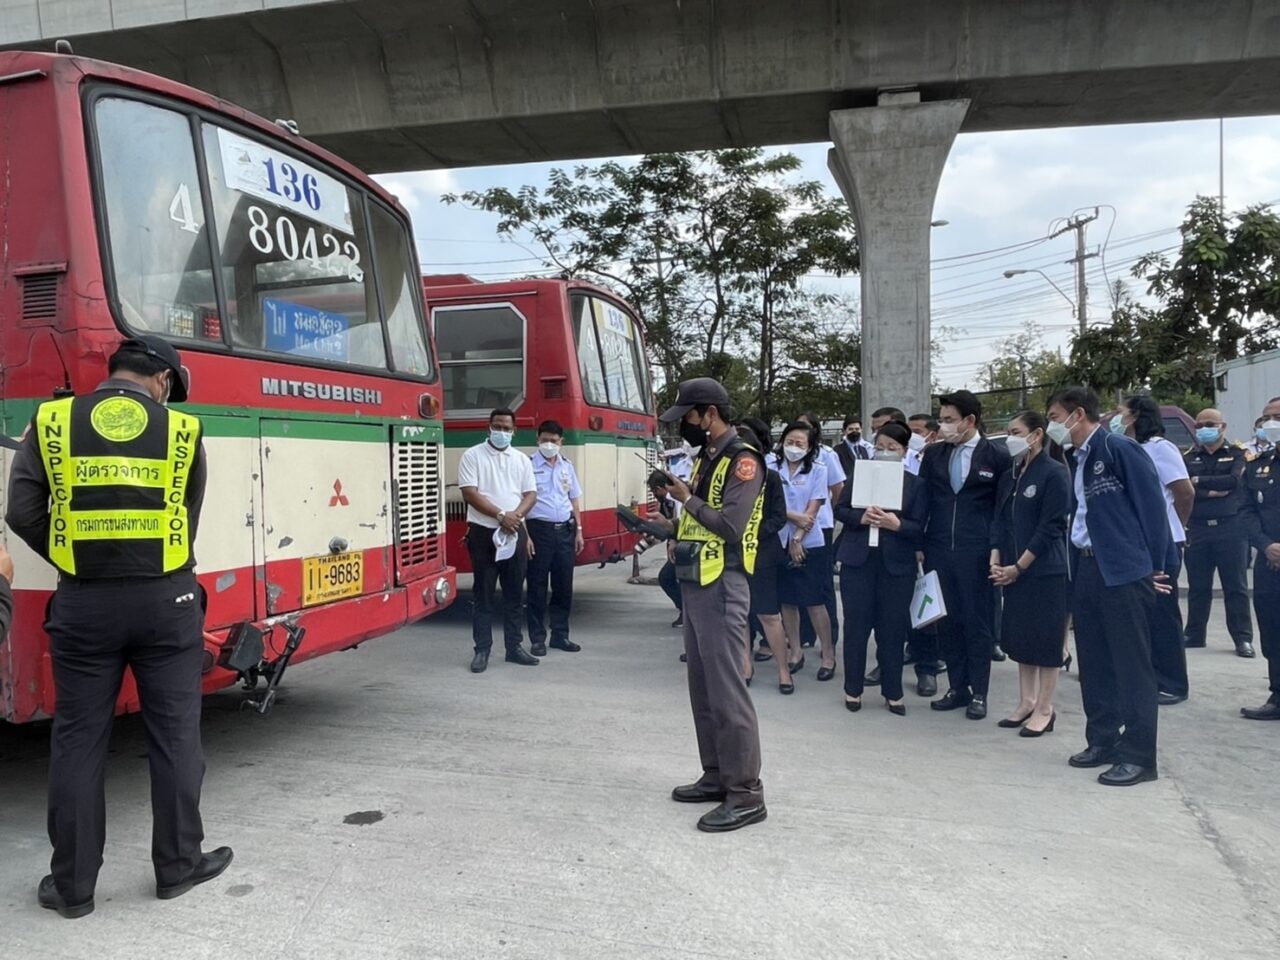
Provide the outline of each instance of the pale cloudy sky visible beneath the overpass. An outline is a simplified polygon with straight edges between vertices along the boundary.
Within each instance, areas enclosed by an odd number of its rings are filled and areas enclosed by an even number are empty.
[[[1224,124],[1222,178],[1228,210],[1280,202],[1280,116],[1231,119]],[[827,143],[790,150],[803,161],[797,174],[838,196],[827,170]],[[590,160],[588,163],[600,163]],[[454,170],[385,174],[378,179],[413,219],[424,273],[466,273],[504,279],[538,271],[536,243],[500,239],[497,218],[445,206],[452,191],[521,184],[545,186],[557,164],[472,166]],[[1178,224],[1197,195],[1219,193],[1219,122],[1128,124],[1112,127],[961,134],[951,150],[933,215],[932,315],[942,352],[934,380],[946,388],[980,389],[986,365],[1011,335],[1034,324],[1048,348],[1069,351],[1075,329],[1075,234],[1046,239],[1055,221],[1100,207],[1089,224],[1088,319],[1110,312],[1107,280],[1123,278],[1133,294],[1144,284],[1132,278],[1144,253],[1176,250]],[[1005,279],[1005,270],[1039,269]],[[851,294],[859,280],[812,276],[813,289]]]

